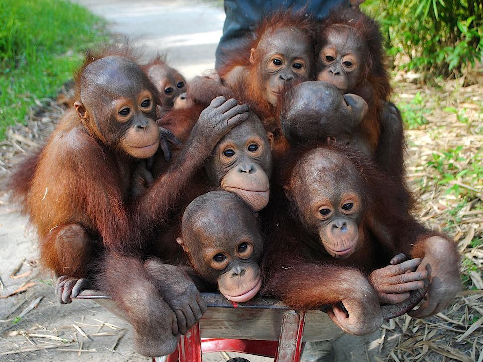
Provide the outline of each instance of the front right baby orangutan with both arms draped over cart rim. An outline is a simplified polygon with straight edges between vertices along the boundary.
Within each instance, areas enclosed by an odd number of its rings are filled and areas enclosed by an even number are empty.
[[[459,288],[454,244],[418,224],[398,187],[367,157],[342,147],[304,152],[286,162],[284,191],[274,190],[269,206],[264,293],[300,309],[332,304],[329,316],[352,334],[411,310],[428,279],[427,300],[441,308],[451,302]]]

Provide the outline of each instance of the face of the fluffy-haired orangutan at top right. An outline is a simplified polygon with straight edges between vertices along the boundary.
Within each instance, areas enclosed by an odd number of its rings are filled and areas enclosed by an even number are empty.
[[[353,92],[367,69],[362,56],[368,51],[365,40],[353,27],[341,24],[330,26],[324,34],[317,79],[334,84],[342,93]]]

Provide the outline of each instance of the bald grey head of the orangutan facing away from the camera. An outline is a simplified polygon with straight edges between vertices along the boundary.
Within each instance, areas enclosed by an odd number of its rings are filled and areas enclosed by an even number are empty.
[[[291,144],[327,138],[349,143],[366,112],[367,103],[361,97],[342,95],[326,82],[308,81],[285,94],[280,118],[283,134]]]

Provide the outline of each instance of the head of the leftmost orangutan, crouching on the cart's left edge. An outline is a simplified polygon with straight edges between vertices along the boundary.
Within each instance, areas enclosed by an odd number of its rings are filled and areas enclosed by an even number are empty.
[[[80,120],[113,147],[136,158],[151,157],[158,148],[156,90],[133,61],[104,57],[87,65],[80,76]]]

